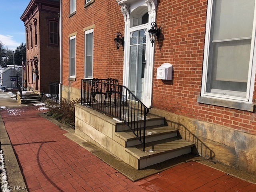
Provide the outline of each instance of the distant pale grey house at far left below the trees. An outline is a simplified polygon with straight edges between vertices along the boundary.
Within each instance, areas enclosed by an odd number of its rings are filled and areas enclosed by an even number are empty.
[[[18,75],[18,82],[21,82],[21,73],[20,73],[20,68],[15,68],[13,67],[8,67],[3,70],[0,70],[0,84],[1,85],[6,85],[7,88],[13,88],[17,87],[16,81],[11,81],[11,76],[17,76]]]

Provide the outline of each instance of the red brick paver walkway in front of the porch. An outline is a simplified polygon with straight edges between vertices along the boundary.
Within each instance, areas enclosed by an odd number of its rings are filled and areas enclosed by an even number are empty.
[[[256,185],[198,162],[132,182],[37,115],[38,107],[1,110],[30,192],[256,192]]]

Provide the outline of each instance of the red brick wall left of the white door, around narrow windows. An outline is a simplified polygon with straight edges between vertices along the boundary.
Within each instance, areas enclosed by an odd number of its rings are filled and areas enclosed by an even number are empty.
[[[76,1],[76,14],[70,15],[69,1],[62,1],[63,10],[63,85],[69,85],[69,34],[76,32],[76,81],[70,86],[81,87],[84,78],[84,31],[91,25],[94,28],[94,66],[96,78],[117,78],[122,83],[123,52],[116,50],[116,32],[124,34],[124,17],[115,1],[96,0],[84,8],[84,0]],[[113,70],[115,69],[115,70]]]

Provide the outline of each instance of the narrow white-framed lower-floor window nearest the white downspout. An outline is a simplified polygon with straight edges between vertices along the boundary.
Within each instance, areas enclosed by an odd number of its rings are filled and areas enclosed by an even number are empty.
[[[69,38],[69,66],[70,77],[76,77],[76,36]]]

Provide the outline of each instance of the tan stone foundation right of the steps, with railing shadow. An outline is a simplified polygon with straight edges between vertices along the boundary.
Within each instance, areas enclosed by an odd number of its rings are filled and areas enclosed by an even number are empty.
[[[256,175],[256,135],[155,108],[150,113],[176,126],[184,140],[195,144],[200,156]]]

